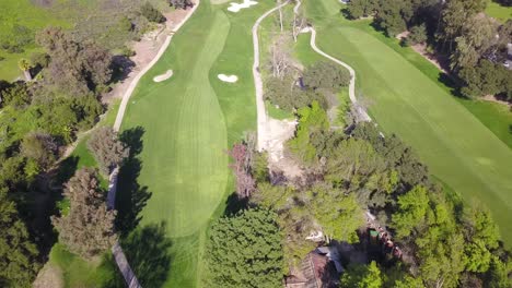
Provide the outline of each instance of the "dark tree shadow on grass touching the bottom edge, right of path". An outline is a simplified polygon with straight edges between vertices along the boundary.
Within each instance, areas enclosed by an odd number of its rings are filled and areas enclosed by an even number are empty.
[[[123,251],[142,287],[162,287],[171,269],[173,242],[166,237],[166,224],[139,228],[120,241]]]

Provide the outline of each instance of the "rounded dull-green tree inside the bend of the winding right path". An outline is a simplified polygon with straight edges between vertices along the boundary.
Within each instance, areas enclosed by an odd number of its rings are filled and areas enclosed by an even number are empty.
[[[310,89],[335,94],[350,83],[350,73],[331,61],[321,61],[304,71],[303,81]]]

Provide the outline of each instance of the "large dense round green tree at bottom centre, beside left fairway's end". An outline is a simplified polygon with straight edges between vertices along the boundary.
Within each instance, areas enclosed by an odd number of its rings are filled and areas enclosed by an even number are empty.
[[[243,211],[213,223],[205,253],[206,287],[280,287],[283,275],[277,215]]]

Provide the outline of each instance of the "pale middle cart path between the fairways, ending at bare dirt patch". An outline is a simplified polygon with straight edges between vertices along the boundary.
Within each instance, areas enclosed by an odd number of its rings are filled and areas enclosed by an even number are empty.
[[[256,109],[257,109],[257,121],[258,121],[258,143],[257,149],[259,152],[263,151],[265,147],[265,140],[266,140],[266,130],[268,127],[268,117],[267,111],[265,108],[264,101],[264,89],[263,89],[263,80],[261,73],[259,72],[259,38],[258,38],[258,28],[259,24],[271,13],[276,12],[278,9],[287,5],[290,0],[270,9],[269,11],[265,12],[253,26],[253,46],[254,46],[254,64],[253,64],[253,76],[254,76],[254,86],[256,88]]]

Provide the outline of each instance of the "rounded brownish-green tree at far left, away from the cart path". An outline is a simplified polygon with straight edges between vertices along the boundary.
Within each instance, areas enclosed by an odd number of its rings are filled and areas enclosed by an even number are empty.
[[[35,160],[42,170],[46,170],[57,159],[57,144],[47,133],[31,132],[23,139],[21,153]]]

